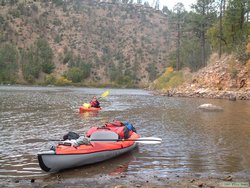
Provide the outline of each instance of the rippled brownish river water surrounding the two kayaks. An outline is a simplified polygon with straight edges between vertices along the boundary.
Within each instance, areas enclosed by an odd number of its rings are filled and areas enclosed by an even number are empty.
[[[156,174],[162,177],[233,175],[250,178],[250,101],[153,96],[138,89],[110,89],[103,110],[79,114],[79,106],[106,89],[0,86],[0,177],[48,177],[36,158],[68,131],[84,134],[91,126],[131,122],[143,137],[161,144],[138,149],[106,162],[67,170],[64,176]],[[223,111],[197,107],[212,103]],[[100,170],[101,169],[101,170]]]

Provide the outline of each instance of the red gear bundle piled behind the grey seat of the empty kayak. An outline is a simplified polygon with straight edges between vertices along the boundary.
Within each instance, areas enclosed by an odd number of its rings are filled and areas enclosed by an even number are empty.
[[[127,139],[133,133],[133,131],[129,130],[128,127],[125,126],[122,122],[114,121],[114,122],[106,123],[105,126],[102,126],[102,127],[90,128],[87,131],[86,136],[90,137],[94,132],[97,132],[97,131],[113,131],[119,135],[120,139]]]

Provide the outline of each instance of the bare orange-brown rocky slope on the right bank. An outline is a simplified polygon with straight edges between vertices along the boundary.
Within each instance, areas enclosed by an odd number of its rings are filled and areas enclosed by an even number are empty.
[[[218,60],[214,55],[207,67],[192,75],[178,88],[168,91],[170,96],[225,98],[250,100],[250,66],[233,56]]]

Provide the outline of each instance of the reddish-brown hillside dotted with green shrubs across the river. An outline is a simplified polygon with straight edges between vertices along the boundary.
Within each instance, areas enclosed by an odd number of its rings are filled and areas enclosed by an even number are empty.
[[[84,84],[145,86],[167,66],[174,45],[167,16],[136,4],[18,1],[0,5],[0,21],[1,46],[11,43],[17,50],[19,83],[60,79],[77,66],[86,70]],[[41,72],[24,75],[25,61],[39,39],[53,53],[50,77]]]

